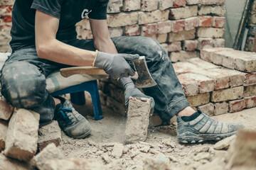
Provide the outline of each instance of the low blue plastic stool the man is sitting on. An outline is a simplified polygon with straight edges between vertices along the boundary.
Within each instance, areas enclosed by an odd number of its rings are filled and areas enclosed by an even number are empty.
[[[63,94],[70,94],[71,102],[77,105],[85,104],[85,91],[88,91],[92,97],[92,106],[96,120],[104,118],[102,115],[102,108],[100,103],[100,94],[97,86],[97,80],[86,81],[85,83],[70,86],[65,89],[55,91],[51,95],[59,96]]]

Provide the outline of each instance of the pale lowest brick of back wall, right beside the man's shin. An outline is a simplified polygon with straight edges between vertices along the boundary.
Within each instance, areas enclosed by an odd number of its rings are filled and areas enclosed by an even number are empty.
[[[178,62],[178,61],[186,61],[188,59],[198,57],[198,52],[193,51],[180,51],[180,52],[171,52],[171,62]]]

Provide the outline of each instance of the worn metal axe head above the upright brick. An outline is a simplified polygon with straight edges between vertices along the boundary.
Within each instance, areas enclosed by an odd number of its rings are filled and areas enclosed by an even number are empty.
[[[129,63],[131,65],[131,63]],[[149,68],[146,65],[146,60],[144,56],[139,57],[139,60],[133,61],[135,71],[138,74],[138,79],[135,86],[138,88],[146,88],[151,86],[156,86],[156,81],[151,77],[149,73]]]

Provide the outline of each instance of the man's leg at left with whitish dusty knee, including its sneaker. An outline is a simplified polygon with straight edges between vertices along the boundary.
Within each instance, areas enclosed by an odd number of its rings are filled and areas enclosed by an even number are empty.
[[[1,70],[1,93],[17,108],[26,108],[40,114],[41,122],[55,118],[71,137],[85,137],[90,124],[69,101],[53,98],[46,90],[46,76],[62,64],[41,60],[35,48],[14,52]]]

